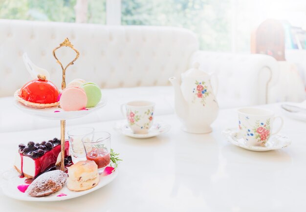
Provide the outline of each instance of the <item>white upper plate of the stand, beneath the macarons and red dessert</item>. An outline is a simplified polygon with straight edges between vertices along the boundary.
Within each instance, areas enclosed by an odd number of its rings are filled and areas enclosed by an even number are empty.
[[[49,107],[49,108],[31,108],[24,106],[22,103],[15,100],[15,106],[21,109],[23,112],[28,113],[30,115],[39,116],[44,119],[54,119],[54,120],[67,120],[67,119],[75,119],[80,118],[82,116],[86,116],[92,111],[102,108],[107,103],[107,100],[102,98],[98,105],[94,107],[88,107],[87,110],[77,110],[77,111],[64,111],[62,108],[58,106]],[[59,111],[59,112],[55,112]]]

